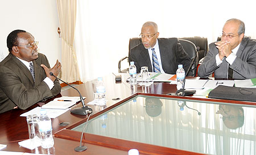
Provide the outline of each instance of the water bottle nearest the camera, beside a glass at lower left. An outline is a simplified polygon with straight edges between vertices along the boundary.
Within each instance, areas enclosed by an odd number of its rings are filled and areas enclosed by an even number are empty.
[[[39,131],[41,135],[42,148],[53,147],[52,121],[46,114],[46,109],[41,109],[39,117]]]

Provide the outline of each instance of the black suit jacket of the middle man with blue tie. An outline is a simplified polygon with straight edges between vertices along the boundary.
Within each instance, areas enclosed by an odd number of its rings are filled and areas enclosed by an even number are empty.
[[[165,73],[176,74],[178,64],[183,64],[184,70],[187,71],[191,59],[177,38],[158,38],[158,45]],[[141,72],[143,66],[147,66],[148,71],[152,72],[148,50],[144,48],[142,43],[131,49],[129,57],[131,61],[134,61],[137,72]]]

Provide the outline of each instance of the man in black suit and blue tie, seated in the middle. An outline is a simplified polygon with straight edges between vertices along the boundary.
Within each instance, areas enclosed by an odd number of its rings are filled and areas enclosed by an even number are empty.
[[[158,25],[148,21],[141,28],[142,43],[130,50],[137,72],[147,66],[149,72],[176,74],[178,64],[187,71],[191,59],[177,38],[158,38]]]

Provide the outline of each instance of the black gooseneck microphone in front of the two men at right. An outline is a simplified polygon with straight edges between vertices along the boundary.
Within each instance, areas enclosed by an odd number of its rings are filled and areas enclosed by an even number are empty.
[[[197,47],[196,47],[196,55],[195,55],[195,57],[192,59],[192,62],[190,63],[190,65],[189,65],[189,67],[188,67],[187,73],[185,74],[184,83],[182,84],[182,88],[181,88],[180,90],[177,90],[177,92],[176,92],[176,95],[177,95],[177,96],[189,96],[189,95],[191,95],[191,94],[196,93],[195,90],[185,90],[184,87],[185,87],[185,79],[186,79],[186,77],[187,77],[187,75],[188,75],[189,70],[191,69],[192,65],[194,64],[194,62],[195,62],[195,60],[196,60],[196,56],[197,56],[197,53],[198,53],[199,49],[200,49],[200,47],[197,46]]]

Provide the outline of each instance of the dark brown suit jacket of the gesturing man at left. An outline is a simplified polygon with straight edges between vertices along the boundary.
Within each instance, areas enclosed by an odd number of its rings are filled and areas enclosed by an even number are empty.
[[[46,74],[40,64],[50,68],[46,56],[38,53],[38,59],[33,61],[33,64],[35,82],[28,68],[13,54],[9,53],[0,63],[0,113],[11,110],[15,106],[27,109],[36,102],[60,93],[61,87],[58,80],[55,80],[51,90],[43,81]]]

